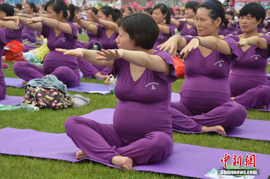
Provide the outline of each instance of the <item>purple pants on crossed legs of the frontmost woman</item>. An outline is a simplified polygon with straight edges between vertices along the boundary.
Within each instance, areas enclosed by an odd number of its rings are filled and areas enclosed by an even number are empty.
[[[65,129],[67,136],[89,158],[106,163],[111,163],[117,155],[132,158],[140,165],[158,162],[173,149],[173,139],[166,133],[151,132],[142,139],[130,141],[120,137],[113,126],[80,116],[69,117]]]

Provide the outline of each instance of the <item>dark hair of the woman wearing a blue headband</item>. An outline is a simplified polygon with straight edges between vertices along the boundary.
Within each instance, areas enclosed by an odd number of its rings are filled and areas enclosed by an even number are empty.
[[[219,8],[219,11],[220,11],[220,14],[221,14],[221,17],[220,17],[221,18],[221,23],[220,23],[220,25],[222,23],[224,23],[227,26],[228,23],[229,23],[229,21],[226,20],[225,8],[224,8],[223,4],[220,1],[218,1],[218,0],[212,0],[212,1]],[[219,17],[219,15],[217,14],[217,11],[215,10],[215,8],[212,5],[208,4],[208,3],[202,3],[202,4],[200,4],[197,9],[199,9],[199,8],[208,9],[209,10],[209,14],[208,15],[211,17],[211,19],[213,21],[217,20],[217,18]]]

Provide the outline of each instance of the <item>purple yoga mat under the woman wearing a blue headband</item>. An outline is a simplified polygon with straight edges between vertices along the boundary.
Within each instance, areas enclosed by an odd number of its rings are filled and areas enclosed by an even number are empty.
[[[99,109],[96,111],[92,111],[91,113],[82,115],[82,117],[104,124],[113,124],[113,113],[114,109]],[[224,136],[270,141],[269,129],[270,129],[270,121],[246,119],[244,124],[242,124],[240,127],[225,129],[226,135]],[[174,131],[183,133],[205,133],[205,132],[189,132],[179,130]],[[209,132],[216,132],[216,131],[209,131]]]

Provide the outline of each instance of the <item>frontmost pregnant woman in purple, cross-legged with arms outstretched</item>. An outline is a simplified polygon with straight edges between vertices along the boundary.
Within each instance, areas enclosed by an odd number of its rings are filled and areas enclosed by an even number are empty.
[[[119,50],[56,50],[113,68],[118,75],[113,126],[80,116],[65,122],[67,135],[81,149],[76,158],[132,170],[133,164],[155,163],[172,152],[171,83],[177,77],[171,56],[153,50],[159,28],[152,17],[135,13],[118,25]]]

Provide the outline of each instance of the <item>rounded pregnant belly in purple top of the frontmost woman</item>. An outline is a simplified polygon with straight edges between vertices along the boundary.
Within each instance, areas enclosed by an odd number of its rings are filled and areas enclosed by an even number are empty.
[[[138,140],[147,133],[171,133],[169,107],[161,103],[119,100],[113,115],[113,127],[124,139]]]

